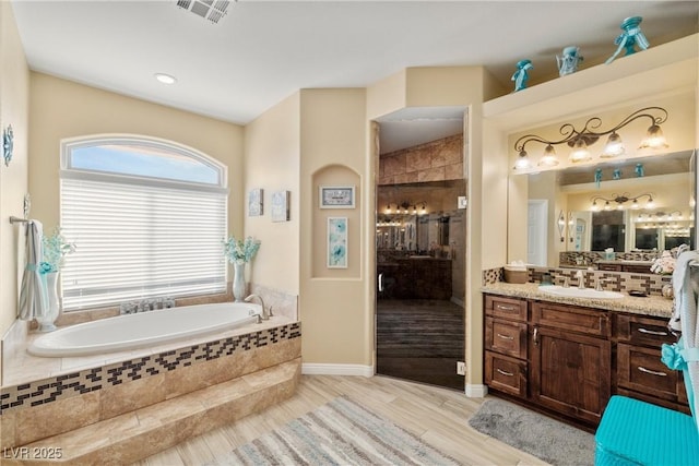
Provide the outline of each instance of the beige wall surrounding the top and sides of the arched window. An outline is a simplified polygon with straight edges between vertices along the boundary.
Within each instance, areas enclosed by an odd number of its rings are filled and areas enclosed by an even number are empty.
[[[29,191],[33,216],[58,224],[60,141],[118,133],[188,145],[228,167],[228,229],[242,231],[242,128],[42,73],[32,73]],[[80,247],[80,246],[79,246]]]

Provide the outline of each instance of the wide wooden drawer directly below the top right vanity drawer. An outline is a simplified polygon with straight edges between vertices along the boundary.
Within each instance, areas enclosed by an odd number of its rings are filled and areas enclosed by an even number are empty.
[[[679,371],[660,360],[660,349],[617,345],[617,377],[619,386],[660,398],[677,401]],[[684,390],[684,387],[683,387]]]

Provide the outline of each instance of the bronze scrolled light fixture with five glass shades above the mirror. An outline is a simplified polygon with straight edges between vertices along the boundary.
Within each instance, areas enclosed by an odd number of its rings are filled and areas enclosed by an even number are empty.
[[[576,129],[571,123],[562,124],[558,131],[564,135],[564,138],[557,141],[549,141],[536,134],[523,135],[514,143],[514,151],[519,154],[517,163],[514,164],[514,169],[521,170],[533,167],[525,150],[526,144],[530,142],[537,142],[546,145],[544,147],[544,155],[538,163],[540,167],[555,167],[559,164],[556,150],[554,148],[554,146],[558,144],[567,144],[572,148],[568,157],[571,163],[577,164],[590,160],[592,155],[590,154],[588,146],[594,144],[600,138],[607,134],[609,134],[609,138],[607,139],[600,157],[614,158],[621,156],[626,152],[626,147],[624,146],[621,136],[619,136],[617,131],[639,118],[649,118],[651,120],[651,126],[648,128],[645,138],[641,141],[639,148],[666,148],[667,142],[665,141],[663,130],[660,126],[667,120],[667,110],[662,107],[645,107],[632,112],[621,120],[621,122],[616,127],[606,131],[594,131],[602,124],[602,119],[593,117],[590,118],[580,130]]]

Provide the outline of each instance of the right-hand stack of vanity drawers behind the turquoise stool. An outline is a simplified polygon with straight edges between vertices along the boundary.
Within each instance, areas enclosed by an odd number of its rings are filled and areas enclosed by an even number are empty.
[[[615,326],[617,392],[688,413],[682,372],[660,359],[662,344],[677,340],[667,319],[619,313]]]

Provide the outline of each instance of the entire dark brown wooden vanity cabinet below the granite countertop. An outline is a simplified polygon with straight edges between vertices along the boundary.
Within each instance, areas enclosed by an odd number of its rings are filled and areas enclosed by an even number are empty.
[[[682,373],[660,360],[667,319],[484,296],[485,383],[501,395],[596,426],[613,394],[687,413]]]

